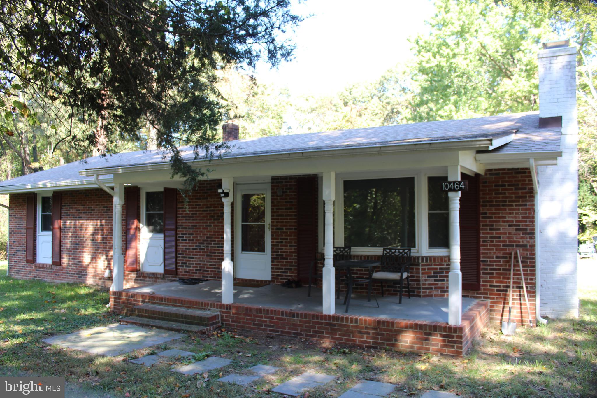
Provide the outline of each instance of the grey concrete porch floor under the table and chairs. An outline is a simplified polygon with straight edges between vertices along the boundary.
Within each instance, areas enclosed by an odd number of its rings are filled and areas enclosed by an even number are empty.
[[[210,280],[198,285],[181,285],[178,282],[160,283],[159,285],[141,286],[125,289],[126,292],[151,293],[170,296],[192,298],[196,300],[221,301],[221,283]],[[336,300],[336,313],[345,314],[343,305],[344,295]],[[379,308],[371,297],[367,301],[366,295],[353,295],[347,314],[359,316],[387,317],[395,319],[424,320],[428,322],[448,322],[448,298],[420,298],[409,300],[402,296],[402,304],[398,304],[397,296],[377,297]],[[464,313],[475,303],[474,298],[462,298],[462,312]],[[289,289],[280,285],[266,285],[260,288],[235,286],[234,302],[251,306],[285,308],[298,311],[322,312],[322,291],[312,288],[311,297],[307,297],[307,288]]]

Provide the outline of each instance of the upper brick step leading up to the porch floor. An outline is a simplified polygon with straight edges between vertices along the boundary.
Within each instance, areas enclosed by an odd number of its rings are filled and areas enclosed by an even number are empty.
[[[167,322],[186,323],[187,325],[204,326],[206,328],[220,325],[220,313],[217,311],[194,310],[159,304],[139,304],[131,308],[131,313],[128,315],[165,320]]]

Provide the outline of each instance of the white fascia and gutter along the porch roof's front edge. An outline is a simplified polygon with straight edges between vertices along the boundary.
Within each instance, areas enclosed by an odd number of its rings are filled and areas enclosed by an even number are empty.
[[[501,140],[503,137],[498,137]],[[473,140],[444,140],[433,141],[432,143],[416,143],[416,144],[387,144],[387,145],[372,145],[362,146],[356,148],[336,148],[326,150],[298,150],[291,152],[259,154],[259,155],[245,155],[236,156],[233,158],[223,158],[227,163],[245,163],[245,162],[259,162],[259,161],[273,161],[277,159],[290,158],[315,158],[323,156],[352,156],[367,153],[390,153],[390,152],[405,152],[413,150],[488,150],[494,146],[494,138],[475,138]],[[505,144],[505,142],[503,143]],[[503,145],[502,144],[502,145]],[[198,159],[196,161],[187,162],[193,166],[209,165],[210,161]],[[148,163],[143,165],[130,166],[115,166],[106,168],[89,168],[79,171],[80,175],[91,177],[96,174],[119,174],[123,172],[134,171],[152,171],[170,168],[170,162]]]

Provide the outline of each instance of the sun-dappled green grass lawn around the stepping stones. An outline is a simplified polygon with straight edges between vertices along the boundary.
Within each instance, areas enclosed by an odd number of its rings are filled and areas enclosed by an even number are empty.
[[[464,359],[325,347],[300,338],[235,337],[239,333],[230,330],[109,358],[48,347],[41,340],[117,322],[106,311],[107,292],[72,283],[17,280],[5,273],[0,264],[0,375],[63,375],[67,391],[76,397],[256,397],[306,371],[338,377],[338,382],[310,391],[310,398],[339,396],[360,380],[398,385],[392,396],[416,397],[431,389],[471,397],[589,397],[597,391],[595,288],[581,291],[580,318],[519,328],[513,337],[490,329]],[[233,363],[223,371],[185,377],[170,372],[174,362],[152,369],[127,362],[168,348],[224,356]],[[247,387],[216,381],[220,374],[258,363],[287,371]]]

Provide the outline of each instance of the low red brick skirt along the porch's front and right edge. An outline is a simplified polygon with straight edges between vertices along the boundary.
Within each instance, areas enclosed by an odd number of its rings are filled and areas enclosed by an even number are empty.
[[[228,328],[303,337],[366,348],[391,348],[414,353],[463,356],[489,322],[489,301],[477,301],[462,316],[460,326],[444,322],[356,315],[325,315],[314,311],[221,304],[164,295],[110,291],[110,309],[122,315],[139,304],[220,311],[221,325]]]

